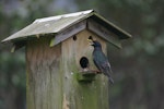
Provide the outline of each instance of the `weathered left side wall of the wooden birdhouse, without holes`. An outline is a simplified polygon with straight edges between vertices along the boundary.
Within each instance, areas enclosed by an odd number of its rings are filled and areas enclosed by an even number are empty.
[[[62,109],[61,45],[49,47],[50,37],[27,41],[27,109]]]

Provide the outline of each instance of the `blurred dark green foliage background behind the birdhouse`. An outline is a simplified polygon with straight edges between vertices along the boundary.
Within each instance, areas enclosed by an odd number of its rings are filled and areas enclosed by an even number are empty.
[[[0,0],[0,40],[36,19],[89,9],[133,36],[122,49],[108,45],[110,109],[164,109],[164,0]],[[25,53],[10,48],[0,44],[0,109],[25,109]]]

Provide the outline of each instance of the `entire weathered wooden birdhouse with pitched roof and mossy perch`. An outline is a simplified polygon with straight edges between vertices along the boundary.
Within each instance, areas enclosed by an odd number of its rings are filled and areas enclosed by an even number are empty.
[[[38,19],[3,41],[26,49],[27,109],[108,109],[108,82],[95,74],[87,38],[120,48],[130,35],[93,10]],[[89,65],[87,65],[89,64]]]

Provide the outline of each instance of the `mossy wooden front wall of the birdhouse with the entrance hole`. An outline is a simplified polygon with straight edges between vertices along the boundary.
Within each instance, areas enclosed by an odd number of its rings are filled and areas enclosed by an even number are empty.
[[[96,34],[84,29],[73,37],[61,43],[62,71],[63,71],[63,97],[67,102],[65,109],[108,109],[108,81],[103,74],[95,75],[91,83],[80,83],[78,73],[81,73],[80,59],[86,57],[91,70],[96,70],[92,60],[93,47],[87,41],[92,36],[97,39],[106,52],[106,43]],[[103,99],[103,100],[102,100]],[[65,104],[62,102],[62,104]],[[66,105],[63,105],[66,106]]]

